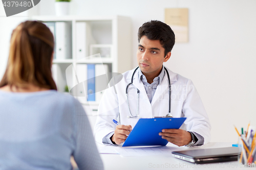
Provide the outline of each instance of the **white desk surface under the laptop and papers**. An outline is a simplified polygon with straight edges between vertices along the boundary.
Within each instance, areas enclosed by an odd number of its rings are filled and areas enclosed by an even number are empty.
[[[191,149],[203,148],[224,148],[232,147],[233,143],[216,143],[210,142],[201,147],[193,147]],[[169,144],[167,144],[168,146]],[[177,150],[179,148],[177,147]],[[133,169],[242,169],[238,165],[238,161],[210,163],[210,164],[195,164],[183,161],[172,156],[172,153],[165,155],[152,156],[135,156],[122,157],[117,154],[100,154],[105,170],[133,170]],[[232,165],[234,167],[232,167]],[[238,167],[236,168],[236,166]],[[255,168],[253,168],[255,169]]]

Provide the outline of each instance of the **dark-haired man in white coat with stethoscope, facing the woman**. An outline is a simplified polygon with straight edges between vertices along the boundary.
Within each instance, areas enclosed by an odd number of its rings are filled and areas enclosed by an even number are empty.
[[[173,30],[152,20],[139,28],[138,40],[139,67],[124,72],[122,80],[102,96],[94,129],[96,141],[120,144],[139,118],[166,116],[170,106],[169,115],[187,118],[180,129],[163,129],[162,138],[178,146],[208,143],[210,122],[194,84],[163,65],[175,43]]]

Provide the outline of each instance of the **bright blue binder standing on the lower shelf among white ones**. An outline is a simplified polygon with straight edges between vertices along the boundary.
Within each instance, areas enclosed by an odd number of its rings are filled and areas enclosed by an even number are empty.
[[[88,101],[95,101],[95,64],[87,64]]]

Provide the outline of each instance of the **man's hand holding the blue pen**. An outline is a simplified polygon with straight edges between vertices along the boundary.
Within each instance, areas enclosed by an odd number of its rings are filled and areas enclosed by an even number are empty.
[[[130,134],[131,131],[132,131],[131,125],[127,125],[127,126],[117,125],[114,135],[112,135],[110,139],[112,142],[115,142],[116,144],[120,144],[125,141],[125,139]]]

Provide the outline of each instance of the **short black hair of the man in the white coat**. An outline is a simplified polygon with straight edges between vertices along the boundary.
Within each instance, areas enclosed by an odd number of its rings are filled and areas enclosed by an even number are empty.
[[[175,43],[175,34],[166,23],[159,20],[151,20],[143,23],[138,31],[138,40],[145,35],[150,40],[160,40],[164,47],[164,57],[168,52],[172,51]]]

